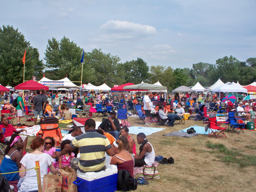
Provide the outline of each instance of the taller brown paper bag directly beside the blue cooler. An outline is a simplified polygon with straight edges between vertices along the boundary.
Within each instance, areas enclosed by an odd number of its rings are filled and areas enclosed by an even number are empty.
[[[76,171],[66,166],[60,169],[62,176],[62,192],[77,192],[77,185],[73,183],[76,180]]]

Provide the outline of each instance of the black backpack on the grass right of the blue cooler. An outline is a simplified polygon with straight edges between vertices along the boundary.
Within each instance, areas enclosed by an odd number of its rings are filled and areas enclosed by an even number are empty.
[[[127,170],[118,171],[117,190],[130,191],[137,189],[137,180]]]

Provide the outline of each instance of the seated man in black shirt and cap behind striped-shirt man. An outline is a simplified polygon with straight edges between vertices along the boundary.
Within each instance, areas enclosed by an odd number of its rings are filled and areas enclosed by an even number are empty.
[[[119,138],[119,131],[120,131],[120,123],[118,119],[115,119],[116,112],[114,110],[109,111],[108,119],[105,119],[104,122],[100,124],[98,129],[103,130],[104,132],[108,132],[116,140]]]

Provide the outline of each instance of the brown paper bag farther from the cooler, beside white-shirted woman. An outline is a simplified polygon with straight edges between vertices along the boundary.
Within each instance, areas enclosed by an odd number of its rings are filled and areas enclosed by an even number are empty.
[[[61,192],[62,176],[58,174],[46,174],[43,178],[43,192]]]

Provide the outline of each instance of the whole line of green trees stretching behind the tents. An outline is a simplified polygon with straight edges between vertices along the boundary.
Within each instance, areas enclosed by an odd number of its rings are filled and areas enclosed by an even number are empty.
[[[45,77],[59,80],[67,76],[71,81],[81,80],[82,48],[68,37],[60,40],[52,37],[48,39],[44,60],[39,59],[38,49],[33,48],[24,35],[13,26],[0,28],[0,84],[16,86],[23,82],[24,50],[26,51],[25,80],[36,80]],[[170,64],[171,65],[171,64]],[[152,65],[138,58],[137,60],[121,62],[118,56],[104,53],[101,49],[93,49],[84,53],[84,67],[82,83],[90,82],[101,85],[104,82],[114,85],[131,82],[139,84],[142,81],[154,84],[159,81],[168,90],[178,86],[193,86],[200,82],[203,86],[210,86],[221,78],[223,82],[237,82],[247,85],[256,80],[256,57],[246,61],[239,61],[236,57],[225,56],[216,60],[216,64],[199,62],[192,68],[176,68],[171,66]],[[79,83],[76,83],[80,85]]]

